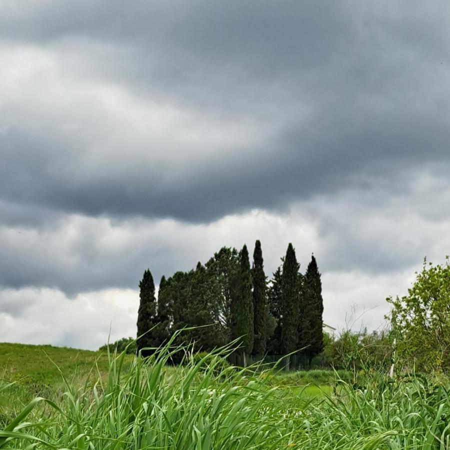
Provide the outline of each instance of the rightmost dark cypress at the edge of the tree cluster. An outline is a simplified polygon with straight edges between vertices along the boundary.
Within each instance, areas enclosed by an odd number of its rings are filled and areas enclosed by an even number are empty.
[[[301,346],[305,346],[304,353],[308,356],[310,364],[311,359],[323,349],[322,283],[314,255],[303,277],[302,297],[300,338]]]

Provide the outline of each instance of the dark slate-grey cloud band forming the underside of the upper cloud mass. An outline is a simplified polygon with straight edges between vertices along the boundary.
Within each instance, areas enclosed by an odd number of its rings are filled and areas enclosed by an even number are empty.
[[[14,136],[9,142],[8,136],[0,136],[2,148],[13,149],[3,153],[1,192],[6,200],[29,207],[208,221],[250,207],[279,209],[293,200],[348,186],[364,189],[373,180],[408,189],[413,183],[411,170],[423,164],[431,168],[436,162],[448,164],[443,141],[450,138],[448,127],[439,117],[420,115],[409,113],[409,118],[393,120],[391,115],[367,113],[371,125],[367,126],[352,112],[327,126],[321,122],[321,129],[283,130],[278,140],[270,142],[279,148],[273,159],[261,149],[260,155],[252,152],[254,160],[236,155],[231,161],[213,161],[200,173],[195,165],[186,166],[173,184],[164,182],[166,174],[157,167],[142,171],[138,160],[123,172],[102,177],[109,168],[105,161],[86,177],[75,154],[46,153],[52,146],[46,138],[43,142],[30,138],[28,145],[19,146]],[[349,125],[355,127],[353,133]]]

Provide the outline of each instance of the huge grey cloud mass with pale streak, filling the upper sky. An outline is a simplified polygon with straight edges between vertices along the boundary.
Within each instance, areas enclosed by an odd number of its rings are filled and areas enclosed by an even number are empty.
[[[450,168],[449,20],[411,4],[6,2],[1,196],[207,222]]]

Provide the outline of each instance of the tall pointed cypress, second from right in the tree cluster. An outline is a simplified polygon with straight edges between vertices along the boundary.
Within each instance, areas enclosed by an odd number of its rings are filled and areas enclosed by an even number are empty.
[[[281,350],[284,354],[297,348],[299,322],[298,262],[289,242],[281,276]],[[286,368],[289,369],[289,359]]]

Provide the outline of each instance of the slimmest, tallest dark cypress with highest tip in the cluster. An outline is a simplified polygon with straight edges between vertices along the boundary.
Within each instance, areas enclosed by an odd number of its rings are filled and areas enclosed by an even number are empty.
[[[261,242],[256,240],[253,251],[253,267],[251,271],[253,282],[253,329],[254,345],[253,354],[262,355],[265,353],[267,340],[266,332],[266,278],[263,267]]]

